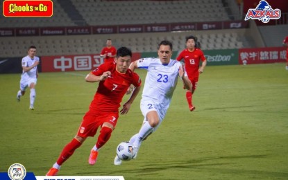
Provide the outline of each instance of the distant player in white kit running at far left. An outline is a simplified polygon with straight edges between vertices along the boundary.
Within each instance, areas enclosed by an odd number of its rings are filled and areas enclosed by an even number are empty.
[[[24,96],[26,88],[30,88],[30,107],[34,110],[35,101],[35,85],[38,78],[37,65],[40,63],[39,57],[35,56],[36,47],[30,46],[28,48],[28,55],[22,58],[22,75],[20,80],[20,90],[17,93],[17,100],[20,101],[21,96]]]

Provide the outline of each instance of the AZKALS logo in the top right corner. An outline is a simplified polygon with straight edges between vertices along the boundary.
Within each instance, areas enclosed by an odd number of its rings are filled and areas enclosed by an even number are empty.
[[[269,3],[266,1],[260,1],[258,6],[255,9],[249,9],[245,21],[248,19],[258,19],[263,23],[268,23],[270,19],[279,19],[281,17],[281,10],[275,9],[273,10]]]

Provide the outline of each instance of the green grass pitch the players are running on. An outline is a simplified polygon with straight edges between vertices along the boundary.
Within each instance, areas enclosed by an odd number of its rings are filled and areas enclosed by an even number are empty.
[[[40,73],[35,111],[29,93],[16,101],[20,74],[2,74],[0,172],[22,163],[44,176],[74,137],[96,91],[87,71]],[[137,71],[144,78],[146,71]],[[142,124],[139,96],[120,116],[96,165],[87,163],[96,137],[62,165],[61,176],[125,179],[288,179],[288,71],[285,64],[207,66],[190,112],[182,82],[160,128],[136,160],[113,165],[117,145]],[[128,96],[124,97],[123,102]],[[98,136],[98,134],[97,134]]]

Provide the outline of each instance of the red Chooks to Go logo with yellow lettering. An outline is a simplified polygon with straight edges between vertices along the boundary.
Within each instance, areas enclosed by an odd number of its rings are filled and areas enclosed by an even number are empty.
[[[3,1],[3,15],[5,17],[51,17],[53,2],[44,1]]]

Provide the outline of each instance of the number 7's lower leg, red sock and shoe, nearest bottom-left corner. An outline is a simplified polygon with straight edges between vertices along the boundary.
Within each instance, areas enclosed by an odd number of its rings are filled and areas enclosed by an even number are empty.
[[[56,176],[58,171],[61,168],[62,163],[67,161],[72,154],[74,154],[75,150],[80,147],[86,138],[76,135],[70,143],[65,145],[63,148],[58,160],[53,164],[53,167],[50,168],[49,172],[47,172],[46,176]]]

